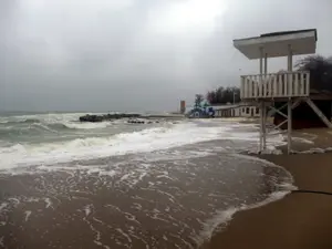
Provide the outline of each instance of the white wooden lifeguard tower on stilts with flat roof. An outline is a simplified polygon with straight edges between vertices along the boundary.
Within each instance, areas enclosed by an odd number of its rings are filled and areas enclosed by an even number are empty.
[[[259,74],[241,75],[240,94],[245,103],[256,104],[260,110],[260,152],[267,145],[267,114],[279,113],[286,120],[277,125],[278,129],[288,122],[288,153],[291,152],[292,110],[301,102],[308,105],[317,115],[332,127],[330,121],[317,107],[310,97],[310,73],[293,71],[292,58],[299,54],[315,53],[317,30],[297,30],[261,34],[260,37],[234,40],[234,46],[249,60],[259,60]],[[287,71],[268,73],[268,58],[287,56]],[[286,104],[276,108],[276,102]],[[287,115],[280,110],[287,107]]]

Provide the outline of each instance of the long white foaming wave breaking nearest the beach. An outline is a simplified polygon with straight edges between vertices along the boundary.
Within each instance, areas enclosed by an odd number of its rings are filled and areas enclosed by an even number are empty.
[[[76,138],[70,142],[38,145],[17,144],[0,147],[0,167],[51,165],[72,160],[101,158],[132,153],[167,149],[175,146],[220,138],[222,127],[198,127],[195,124],[175,124],[169,127],[147,128],[108,137]],[[0,168],[0,169],[1,169]]]

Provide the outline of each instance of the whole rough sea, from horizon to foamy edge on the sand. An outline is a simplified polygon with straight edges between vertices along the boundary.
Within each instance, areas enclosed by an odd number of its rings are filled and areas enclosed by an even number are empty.
[[[251,155],[255,123],[81,115],[0,115],[0,248],[201,248],[237,211],[293,188]]]

